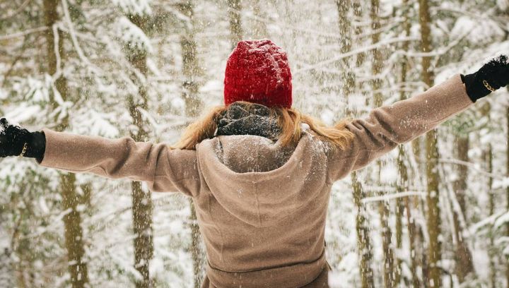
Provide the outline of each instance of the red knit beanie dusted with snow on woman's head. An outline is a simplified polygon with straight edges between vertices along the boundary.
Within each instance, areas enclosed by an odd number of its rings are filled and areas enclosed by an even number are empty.
[[[224,100],[290,108],[291,72],[286,52],[271,40],[240,41],[226,62]]]

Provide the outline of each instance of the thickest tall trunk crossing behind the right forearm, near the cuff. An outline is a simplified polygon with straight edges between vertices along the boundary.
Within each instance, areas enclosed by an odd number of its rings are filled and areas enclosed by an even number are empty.
[[[430,14],[427,0],[419,0],[419,24],[421,26],[421,51],[431,52]],[[433,86],[433,72],[430,67],[431,57],[422,57],[421,77],[429,87]],[[428,208],[428,284],[429,287],[441,287],[442,272],[438,263],[442,258],[440,244],[440,206],[438,205],[438,135],[436,129],[426,133],[426,179],[427,195],[426,206]]]

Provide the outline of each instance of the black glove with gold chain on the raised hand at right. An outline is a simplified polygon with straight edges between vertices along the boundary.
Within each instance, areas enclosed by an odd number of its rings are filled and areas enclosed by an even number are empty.
[[[479,71],[461,76],[472,102],[509,84],[508,56],[501,55],[484,64]]]

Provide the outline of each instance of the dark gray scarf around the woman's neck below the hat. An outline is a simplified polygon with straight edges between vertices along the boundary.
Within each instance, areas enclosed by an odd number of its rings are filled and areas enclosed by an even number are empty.
[[[281,128],[277,119],[270,116],[270,109],[261,104],[233,103],[221,114],[217,121],[216,136],[220,135],[257,135],[277,141]]]

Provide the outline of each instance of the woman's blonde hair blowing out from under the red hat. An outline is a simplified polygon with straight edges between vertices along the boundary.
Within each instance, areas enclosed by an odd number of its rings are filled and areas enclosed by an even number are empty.
[[[244,109],[250,111],[254,105],[250,102],[239,101],[245,104]],[[175,149],[194,150],[196,145],[206,138],[212,138],[216,133],[217,121],[221,119],[223,112],[226,112],[228,106],[213,107],[207,114],[187,126],[179,142],[173,146]],[[353,133],[345,128],[349,124],[351,117],[347,117],[338,124],[329,127],[325,126],[322,121],[300,113],[295,108],[272,107],[270,116],[275,117],[281,127],[279,141],[282,146],[295,144],[302,136],[301,124],[308,124],[312,133],[321,140],[332,144],[332,148],[340,148],[345,150]]]

